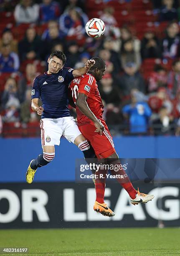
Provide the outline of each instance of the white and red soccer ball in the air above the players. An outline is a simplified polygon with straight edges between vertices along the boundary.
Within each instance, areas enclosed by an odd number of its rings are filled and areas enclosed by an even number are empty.
[[[99,38],[105,32],[104,22],[98,18],[92,18],[86,23],[86,33],[90,37]]]

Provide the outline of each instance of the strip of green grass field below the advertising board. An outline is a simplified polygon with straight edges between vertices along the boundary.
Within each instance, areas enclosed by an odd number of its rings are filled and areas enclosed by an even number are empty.
[[[0,247],[28,247],[34,256],[180,255],[180,228],[0,230]]]

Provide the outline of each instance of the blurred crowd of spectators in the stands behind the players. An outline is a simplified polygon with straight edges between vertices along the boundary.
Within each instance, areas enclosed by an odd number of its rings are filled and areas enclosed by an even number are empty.
[[[83,0],[10,2],[2,1],[0,13],[13,12],[13,26],[23,36],[15,37],[7,23],[0,37],[0,79],[6,74],[0,85],[0,133],[2,123],[25,127],[39,121],[30,108],[32,82],[46,71],[51,51],[60,50],[67,56],[67,67],[83,67],[92,56],[106,62],[99,92],[112,133],[180,135],[180,8],[176,0],[152,1],[157,21],[168,23],[162,37],[149,27],[142,38],[126,24],[119,27],[111,1],[102,1],[108,3],[99,15],[106,31],[98,39],[85,33],[91,17]],[[144,63],[149,59],[153,68],[145,76]],[[76,117],[73,109],[71,113]]]

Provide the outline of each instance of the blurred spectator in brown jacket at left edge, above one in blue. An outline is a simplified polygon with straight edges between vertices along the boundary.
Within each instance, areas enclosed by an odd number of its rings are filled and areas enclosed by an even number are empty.
[[[10,45],[11,51],[18,53],[18,41],[13,38],[13,33],[9,28],[5,28],[0,39],[0,49],[3,45]]]

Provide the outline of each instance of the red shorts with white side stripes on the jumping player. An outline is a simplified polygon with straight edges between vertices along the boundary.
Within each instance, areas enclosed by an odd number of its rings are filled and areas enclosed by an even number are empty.
[[[101,123],[104,125],[102,136],[96,133],[96,127],[93,122],[79,126],[82,135],[91,143],[98,159],[107,158],[115,153],[114,143],[109,129],[103,119]]]

